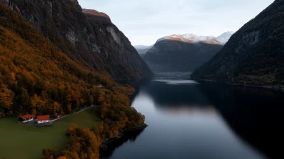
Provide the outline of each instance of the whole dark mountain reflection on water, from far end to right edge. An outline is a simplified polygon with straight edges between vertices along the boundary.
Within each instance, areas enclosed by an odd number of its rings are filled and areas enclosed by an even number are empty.
[[[140,87],[138,82],[131,85],[136,87],[137,94],[145,92],[151,96],[155,106],[171,113],[191,111],[200,106],[204,111],[215,108],[244,141],[269,158],[283,156],[283,146],[278,145],[284,141],[284,94],[268,89],[211,82],[165,84],[146,80]]]

